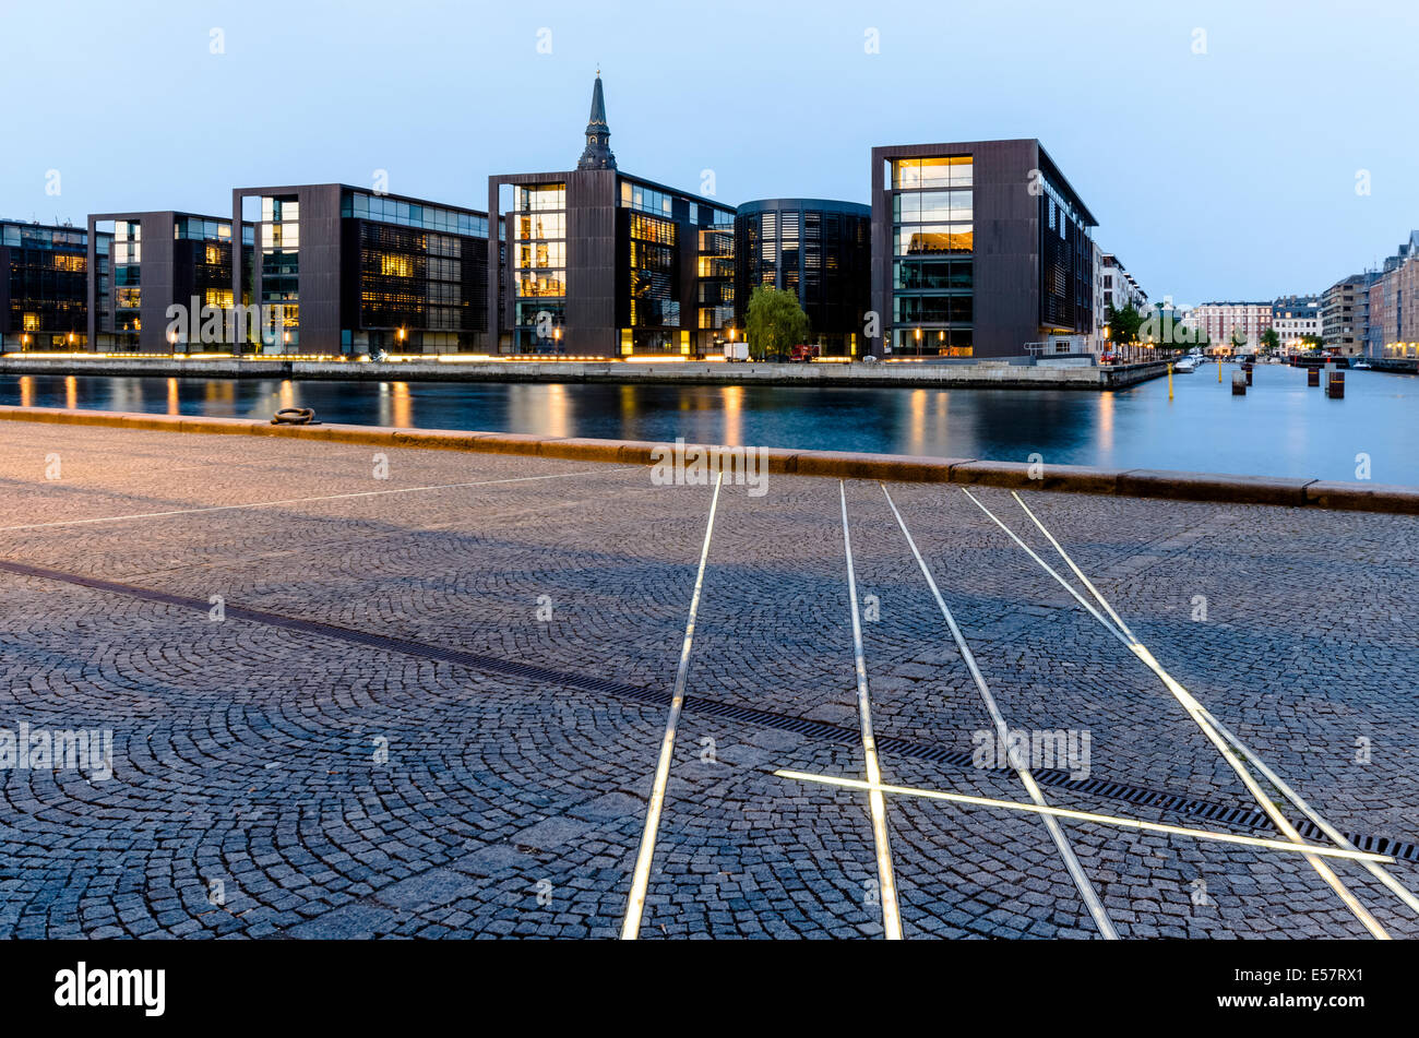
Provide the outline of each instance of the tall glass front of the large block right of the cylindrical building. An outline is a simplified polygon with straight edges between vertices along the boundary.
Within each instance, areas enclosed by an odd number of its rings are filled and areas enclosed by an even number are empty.
[[[891,160],[891,352],[972,356],[972,156]]]

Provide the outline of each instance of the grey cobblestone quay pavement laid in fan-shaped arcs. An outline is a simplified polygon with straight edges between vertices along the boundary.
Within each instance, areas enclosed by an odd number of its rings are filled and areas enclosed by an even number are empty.
[[[711,488],[383,454],[0,425],[0,729],[112,730],[109,778],[11,744],[0,936],[619,933]],[[839,486],[722,491],[646,937],[883,934],[866,794],[773,774],[864,770]],[[1049,803],[1276,835],[1162,682],[959,488],[888,489],[1007,723],[1088,736],[1094,781],[1056,776]],[[884,780],[1027,801],[1003,761],[971,763],[989,713],[883,488],[843,493]],[[1057,562],[1007,492],[978,496]],[[1026,501],[1317,811],[1412,854],[1419,520]],[[907,937],[1098,936],[1039,817],[890,796],[887,825]],[[1063,831],[1124,937],[1365,934],[1296,854]],[[1419,861],[1389,869],[1419,889]],[[1364,866],[1335,871],[1419,936]]]

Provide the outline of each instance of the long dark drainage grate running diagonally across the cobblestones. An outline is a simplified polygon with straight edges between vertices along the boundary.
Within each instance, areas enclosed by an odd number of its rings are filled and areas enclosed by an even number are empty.
[[[55,580],[65,584],[75,584],[78,587],[88,587],[95,591],[109,591],[112,594],[122,594],[132,598],[143,598],[146,601],[163,603],[166,606],[176,606],[179,608],[192,608],[206,613],[209,603],[201,598],[189,598],[186,596],[169,594],[166,591],[155,591],[148,587],[138,587],[136,584],[122,584],[112,580],[99,580],[96,577],[85,577],[77,573],[65,573],[62,570],[48,570],[38,566],[26,566],[23,563],[4,562],[0,560],[0,570],[7,570],[10,573],[17,573],[27,577],[38,577],[40,580]],[[237,617],[241,620],[250,620],[255,624],[265,624],[267,627],[281,627],[288,631],[298,631],[301,634],[315,634],[326,638],[335,638],[343,642],[366,645],[369,648],[377,648],[385,652],[399,652],[402,655],[419,657],[423,659],[433,659],[443,664],[454,664],[455,666],[465,666],[474,671],[488,671],[492,674],[505,674],[511,678],[524,678],[526,681],[534,681],[546,685],[559,685],[563,688],[575,688],[583,692],[596,692],[602,695],[612,695],[617,699],[629,699],[637,703],[646,703],[647,706],[670,706],[671,695],[660,689],[648,689],[637,685],[627,685],[620,681],[610,681],[609,678],[595,678],[585,674],[576,674],[572,671],[558,671],[548,666],[538,666],[535,664],[519,664],[512,659],[502,659],[501,657],[490,657],[481,652],[465,652],[464,649],[444,648],[443,645],[431,645],[423,641],[412,641],[406,638],[390,638],[382,634],[370,634],[368,631],[356,631],[349,627],[339,627],[336,624],[322,624],[316,620],[301,620],[298,617],[288,617],[281,613],[267,613],[264,610],[251,610],[241,606],[227,606],[227,615]],[[735,720],[744,725],[753,725],[755,727],[768,727],[778,732],[793,732],[796,735],[806,736],[817,742],[826,743],[841,743],[844,746],[857,746],[861,733],[856,727],[843,727],[840,725],[829,725],[820,720],[809,720],[806,718],[793,718],[786,713],[775,713],[772,710],[759,710],[752,706],[741,706],[738,703],[727,703],[718,699],[701,699],[700,696],[685,696],[685,709],[692,713],[708,715],[714,718],[724,718],[727,720]],[[954,750],[946,746],[931,746],[924,743],[914,743],[905,739],[897,739],[893,736],[885,736],[877,740],[877,749],[883,753],[898,754],[902,757],[910,757],[912,760],[928,760],[935,764],[946,764],[959,769],[973,769],[972,754],[966,750]],[[986,769],[995,774],[1009,776],[1010,769]],[[1242,828],[1250,830],[1269,830],[1271,828],[1270,820],[1263,811],[1256,808],[1244,807],[1230,807],[1226,804],[1216,804],[1209,800],[1199,800],[1196,797],[1185,797],[1178,793],[1165,793],[1162,790],[1151,790],[1145,786],[1132,786],[1130,783],[1110,781],[1108,778],[1070,778],[1069,771],[1061,771],[1057,769],[1042,769],[1034,771],[1034,778],[1042,786],[1050,786],[1061,790],[1071,790],[1074,793],[1084,793],[1093,797],[1104,797],[1107,800],[1122,800],[1130,804],[1137,804],[1139,807],[1152,807],[1159,811],[1166,811],[1169,814],[1182,814],[1192,818],[1205,818],[1208,821],[1226,822],[1229,825],[1239,825]],[[1293,821],[1297,831],[1314,841],[1324,841],[1325,834],[1311,821]],[[1388,854],[1393,858],[1401,858],[1403,861],[1419,862],[1419,844],[1412,844],[1406,841],[1391,839],[1388,837],[1369,837],[1354,832],[1345,832],[1345,838],[1354,844],[1361,851],[1369,851],[1374,854]]]

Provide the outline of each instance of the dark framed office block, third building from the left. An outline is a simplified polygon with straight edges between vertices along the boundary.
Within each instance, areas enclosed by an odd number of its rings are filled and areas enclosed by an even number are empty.
[[[233,224],[253,225],[231,296],[254,311],[244,349],[358,356],[482,352],[498,235],[471,208],[349,184],[240,187]],[[498,278],[492,279],[498,284]],[[495,294],[494,294],[494,298]],[[248,311],[251,312],[251,311]]]

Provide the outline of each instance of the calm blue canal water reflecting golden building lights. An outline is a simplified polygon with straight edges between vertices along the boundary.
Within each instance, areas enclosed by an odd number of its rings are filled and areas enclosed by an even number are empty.
[[[282,381],[0,376],[0,403],[612,440],[751,444],[1104,468],[1176,468],[1419,485],[1419,377],[1347,372],[1344,400],[1305,372],[1260,364],[1233,397],[1232,366],[1112,393],[783,386]]]

